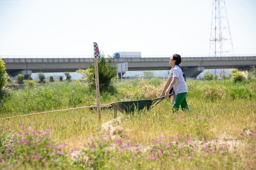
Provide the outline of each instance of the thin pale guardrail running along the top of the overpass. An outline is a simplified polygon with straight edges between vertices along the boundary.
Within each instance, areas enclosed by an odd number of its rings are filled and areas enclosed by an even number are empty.
[[[172,55],[142,55],[142,58],[169,58]],[[253,57],[256,54],[235,54],[225,57]],[[207,55],[181,55],[181,57],[212,57]],[[220,57],[220,56],[216,56]],[[0,55],[0,58],[94,58],[92,55]]]

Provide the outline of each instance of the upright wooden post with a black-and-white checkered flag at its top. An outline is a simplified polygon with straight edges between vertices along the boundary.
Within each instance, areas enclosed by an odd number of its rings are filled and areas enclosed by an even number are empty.
[[[95,68],[97,112],[99,115],[99,120],[101,120],[101,103],[99,101],[99,72],[98,72],[98,62],[101,61],[101,54],[99,53],[99,47],[96,42],[93,43],[93,49],[94,49],[94,68]]]

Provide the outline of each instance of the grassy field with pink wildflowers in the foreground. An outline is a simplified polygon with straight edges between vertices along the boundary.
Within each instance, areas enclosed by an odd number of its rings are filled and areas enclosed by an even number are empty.
[[[157,98],[163,79],[120,82],[101,104]],[[1,119],[1,169],[255,169],[256,81],[187,80],[191,112],[165,99],[133,115],[89,109]],[[95,90],[54,82],[10,90],[1,117],[95,105]]]

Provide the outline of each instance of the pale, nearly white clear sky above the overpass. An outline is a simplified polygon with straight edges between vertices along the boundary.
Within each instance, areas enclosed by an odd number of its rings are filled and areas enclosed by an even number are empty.
[[[256,54],[256,0],[226,0],[235,54]],[[0,55],[209,54],[212,0],[0,0]]]

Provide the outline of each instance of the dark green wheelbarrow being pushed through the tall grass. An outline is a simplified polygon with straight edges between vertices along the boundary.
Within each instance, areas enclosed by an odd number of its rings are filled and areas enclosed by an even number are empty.
[[[169,97],[170,96],[173,96],[173,94],[169,94]],[[150,110],[155,107],[155,105],[157,105],[159,102],[161,102],[164,98],[165,96],[146,100],[117,101],[111,103],[110,105],[114,108],[114,118],[116,118],[117,110],[121,113],[132,113],[135,111],[135,109],[138,111],[143,109]]]

